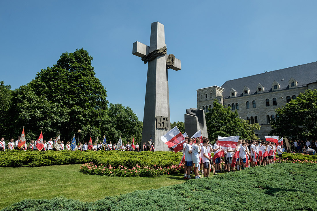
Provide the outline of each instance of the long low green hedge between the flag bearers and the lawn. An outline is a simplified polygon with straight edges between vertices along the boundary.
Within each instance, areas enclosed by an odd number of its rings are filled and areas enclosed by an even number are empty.
[[[97,165],[124,165],[133,168],[167,167],[178,165],[183,154],[181,152],[130,152],[130,151],[0,151],[0,167],[38,167],[64,164],[95,163]]]

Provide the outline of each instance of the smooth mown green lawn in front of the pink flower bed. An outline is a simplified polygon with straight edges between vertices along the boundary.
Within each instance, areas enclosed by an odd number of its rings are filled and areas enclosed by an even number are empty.
[[[34,168],[0,167],[0,209],[26,198],[51,199],[56,196],[95,201],[105,196],[134,190],[158,189],[185,182],[178,176],[107,177],[85,175],[80,164]]]

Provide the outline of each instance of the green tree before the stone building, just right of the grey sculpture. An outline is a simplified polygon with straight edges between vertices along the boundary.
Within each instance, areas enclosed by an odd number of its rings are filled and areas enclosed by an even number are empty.
[[[213,108],[205,114],[208,137],[210,140],[218,136],[240,136],[240,139],[258,140],[253,130],[260,130],[260,125],[249,124],[248,120],[239,117],[237,110],[232,112],[229,107],[220,105],[217,99],[213,102]]]

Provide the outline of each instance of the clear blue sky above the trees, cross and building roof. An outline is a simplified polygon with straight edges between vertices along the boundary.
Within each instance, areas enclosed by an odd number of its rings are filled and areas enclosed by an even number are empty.
[[[196,89],[317,61],[317,1],[8,1],[0,2],[0,80],[13,89],[86,49],[108,100],[143,121],[147,65],[132,55],[149,45],[151,23],[165,25],[171,122],[197,107]]]

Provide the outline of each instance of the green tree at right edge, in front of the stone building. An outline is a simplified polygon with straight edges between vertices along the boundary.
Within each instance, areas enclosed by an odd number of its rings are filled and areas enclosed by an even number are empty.
[[[275,109],[271,134],[317,139],[317,90],[307,89],[281,108]]]

